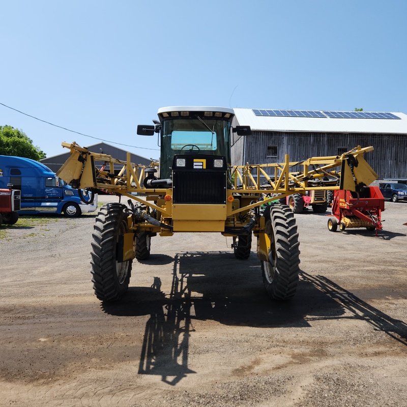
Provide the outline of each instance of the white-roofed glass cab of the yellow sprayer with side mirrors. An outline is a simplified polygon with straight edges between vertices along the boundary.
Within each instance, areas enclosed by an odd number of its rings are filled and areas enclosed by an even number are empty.
[[[137,134],[153,135],[159,132],[161,157],[160,179],[168,179],[172,168],[187,165],[183,156],[196,155],[193,168],[211,166],[230,167],[230,132],[250,135],[250,127],[231,128],[234,111],[225,107],[172,106],[158,110],[160,122],[151,126],[138,126]],[[213,159],[211,159],[211,157]]]

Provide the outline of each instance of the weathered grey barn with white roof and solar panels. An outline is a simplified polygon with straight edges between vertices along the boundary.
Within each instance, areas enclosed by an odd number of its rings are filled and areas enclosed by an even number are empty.
[[[249,125],[251,136],[232,140],[233,165],[283,162],[340,155],[373,146],[365,159],[380,179],[407,179],[407,115],[235,108],[233,125]]]

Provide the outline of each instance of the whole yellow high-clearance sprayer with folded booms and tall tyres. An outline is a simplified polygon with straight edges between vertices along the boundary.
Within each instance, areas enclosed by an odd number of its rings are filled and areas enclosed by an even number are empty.
[[[160,160],[150,166],[131,163],[130,153],[120,161],[63,143],[71,155],[57,176],[79,190],[103,189],[129,198],[127,205],[103,206],[96,218],[91,263],[100,300],[125,294],[132,260],[149,257],[152,237],[180,232],[231,237],[238,259],[249,257],[254,235],[267,293],[289,299],[299,279],[299,239],[292,209],[278,200],[313,190],[358,193],[377,178],[363,157],[372,147],[299,162],[285,156],[282,163],[231,166],[231,136],[251,134],[250,127],[232,127],[232,109],[166,107],[158,118],[154,125],[137,127],[139,135],[159,135]],[[336,179],[336,186],[326,186],[327,179]]]

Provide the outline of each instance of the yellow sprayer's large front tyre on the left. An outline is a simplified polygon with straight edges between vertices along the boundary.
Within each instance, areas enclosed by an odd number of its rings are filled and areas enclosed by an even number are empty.
[[[120,300],[129,287],[132,260],[117,261],[119,235],[127,229],[126,207],[108,203],[100,208],[92,234],[91,273],[96,297],[102,301]]]

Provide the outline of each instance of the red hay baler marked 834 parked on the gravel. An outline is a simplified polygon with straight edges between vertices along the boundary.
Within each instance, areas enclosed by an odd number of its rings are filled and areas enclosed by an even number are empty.
[[[385,199],[379,187],[363,187],[360,192],[343,189],[334,190],[332,215],[328,229],[336,231],[346,228],[365,227],[368,230],[382,230],[382,211]]]

